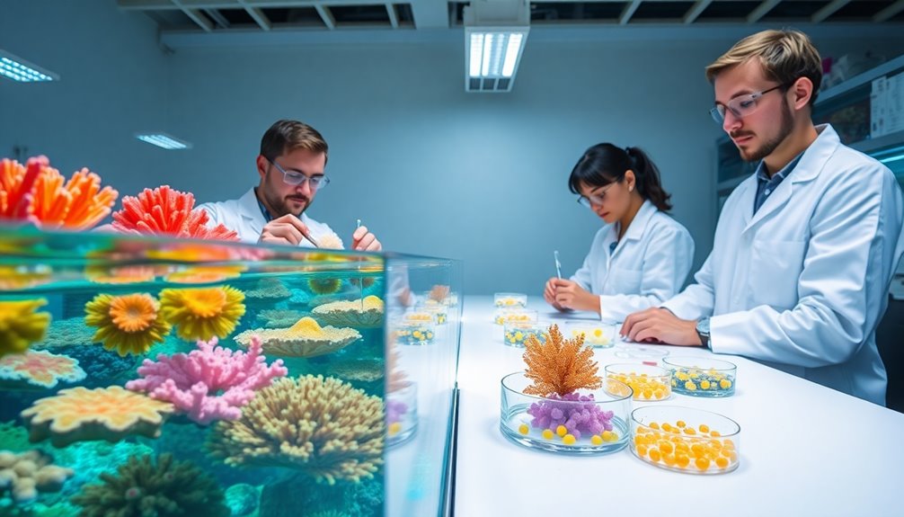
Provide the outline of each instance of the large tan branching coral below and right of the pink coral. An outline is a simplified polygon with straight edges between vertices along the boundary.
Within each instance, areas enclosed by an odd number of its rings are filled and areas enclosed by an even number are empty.
[[[227,465],[287,466],[334,484],[372,477],[383,462],[382,400],[338,379],[280,379],[241,413],[208,438]]]

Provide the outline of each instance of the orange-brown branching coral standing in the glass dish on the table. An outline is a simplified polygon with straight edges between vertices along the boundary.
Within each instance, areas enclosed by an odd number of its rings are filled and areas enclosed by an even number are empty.
[[[525,395],[560,396],[581,389],[596,390],[602,386],[597,375],[597,362],[591,361],[593,349],[584,346],[584,334],[563,339],[558,325],[550,325],[549,338],[540,343],[531,335],[524,342],[524,376],[533,384],[524,389]]]

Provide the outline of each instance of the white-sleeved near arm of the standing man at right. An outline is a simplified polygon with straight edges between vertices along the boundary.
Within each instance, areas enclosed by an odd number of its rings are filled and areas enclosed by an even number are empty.
[[[713,351],[807,368],[848,361],[877,323],[875,300],[886,296],[900,257],[901,219],[901,193],[887,169],[839,174],[809,221],[796,306],[712,317]]]

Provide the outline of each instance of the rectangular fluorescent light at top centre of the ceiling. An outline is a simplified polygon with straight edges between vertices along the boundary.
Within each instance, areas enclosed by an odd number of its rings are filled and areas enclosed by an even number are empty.
[[[511,91],[531,30],[529,4],[472,2],[464,20],[466,91]]]

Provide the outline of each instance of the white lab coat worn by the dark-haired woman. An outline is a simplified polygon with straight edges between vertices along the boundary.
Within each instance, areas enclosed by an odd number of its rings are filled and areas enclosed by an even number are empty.
[[[571,276],[599,295],[599,315],[617,323],[659,305],[681,290],[693,262],[693,239],[679,222],[645,201],[613,253],[618,223],[601,228],[584,265]]]

